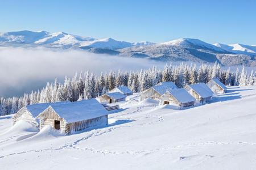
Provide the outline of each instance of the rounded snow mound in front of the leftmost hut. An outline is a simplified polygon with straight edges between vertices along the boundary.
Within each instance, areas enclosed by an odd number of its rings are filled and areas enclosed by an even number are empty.
[[[20,120],[16,122],[14,126],[12,126],[9,130],[7,130],[5,133],[22,133],[22,132],[36,132],[38,131],[38,128],[36,128],[36,125],[32,122],[28,122],[25,120]]]

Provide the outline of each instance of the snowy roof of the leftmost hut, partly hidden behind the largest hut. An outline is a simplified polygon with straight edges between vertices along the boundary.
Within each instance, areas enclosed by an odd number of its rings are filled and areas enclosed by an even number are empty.
[[[60,102],[56,102],[56,103],[38,103],[38,104],[26,105],[26,108],[32,114],[33,117],[36,117],[40,113],[42,113],[46,108],[48,108],[49,105],[58,105],[58,104],[64,104],[64,103],[71,103],[71,102],[70,101],[60,101]]]

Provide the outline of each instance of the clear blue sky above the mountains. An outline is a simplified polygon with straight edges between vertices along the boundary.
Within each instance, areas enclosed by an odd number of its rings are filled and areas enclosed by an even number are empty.
[[[256,45],[256,1],[0,1],[0,32]]]

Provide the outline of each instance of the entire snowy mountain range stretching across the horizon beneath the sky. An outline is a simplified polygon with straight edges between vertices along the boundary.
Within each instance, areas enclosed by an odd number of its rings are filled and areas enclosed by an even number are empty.
[[[198,39],[177,39],[162,43],[126,42],[112,38],[98,40],[64,32],[18,31],[0,33],[0,46],[44,46],[159,61],[217,61],[222,65],[256,66],[256,45],[208,44]]]

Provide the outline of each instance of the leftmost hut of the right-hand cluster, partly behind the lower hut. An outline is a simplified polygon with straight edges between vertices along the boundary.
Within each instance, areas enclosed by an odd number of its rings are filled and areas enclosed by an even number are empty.
[[[160,82],[156,86],[150,87],[141,93],[139,100],[142,101],[147,98],[160,99],[160,97],[171,89],[178,88],[174,82]]]

